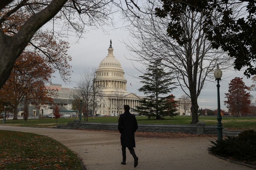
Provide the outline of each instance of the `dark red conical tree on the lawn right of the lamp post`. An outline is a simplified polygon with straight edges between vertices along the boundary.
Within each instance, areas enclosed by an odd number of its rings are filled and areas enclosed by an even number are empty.
[[[249,87],[244,84],[243,78],[239,77],[232,79],[228,85],[228,93],[225,93],[228,100],[224,101],[224,104],[232,115],[245,115],[249,112],[248,107],[251,104],[250,92],[246,92]]]

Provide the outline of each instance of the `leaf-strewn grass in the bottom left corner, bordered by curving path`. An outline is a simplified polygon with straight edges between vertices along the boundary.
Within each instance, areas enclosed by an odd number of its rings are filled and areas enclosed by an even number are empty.
[[[0,130],[0,169],[83,169],[75,153],[50,137]]]

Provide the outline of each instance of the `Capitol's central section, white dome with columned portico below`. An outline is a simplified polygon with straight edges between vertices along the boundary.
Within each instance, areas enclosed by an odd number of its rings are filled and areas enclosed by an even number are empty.
[[[128,104],[131,108],[139,105],[140,96],[127,92],[127,80],[124,78],[124,70],[121,63],[113,55],[112,42],[108,48],[108,55],[104,58],[96,70],[96,84],[102,86],[103,104],[96,109],[100,115],[116,115],[117,107],[119,114],[124,113],[123,105]]]

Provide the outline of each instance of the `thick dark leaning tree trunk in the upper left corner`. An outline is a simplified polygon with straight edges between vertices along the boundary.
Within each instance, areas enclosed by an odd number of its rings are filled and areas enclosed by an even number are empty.
[[[9,2],[11,0],[7,0],[6,3]],[[5,81],[9,78],[15,60],[20,56],[34,33],[53,18],[66,2],[67,0],[52,0],[42,11],[28,18],[15,36],[7,36],[0,29],[0,88],[3,87]],[[1,4],[3,3],[1,2]],[[0,7],[2,8],[2,5]]]

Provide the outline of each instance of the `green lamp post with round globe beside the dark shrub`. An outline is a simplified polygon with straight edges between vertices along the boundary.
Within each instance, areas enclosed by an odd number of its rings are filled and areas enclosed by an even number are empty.
[[[214,77],[215,80],[217,80],[217,98],[218,98],[218,115],[217,115],[217,136],[218,136],[218,141],[222,140],[222,123],[221,123],[221,115],[220,115],[220,80],[222,76],[222,71],[219,68],[219,64],[217,65],[217,69],[214,71]]]

